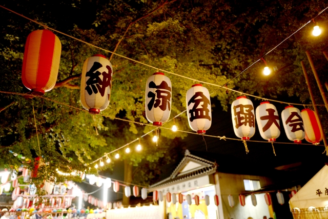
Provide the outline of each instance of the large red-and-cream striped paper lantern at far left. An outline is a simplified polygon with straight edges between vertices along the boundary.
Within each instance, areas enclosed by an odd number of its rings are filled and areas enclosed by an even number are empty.
[[[44,95],[56,84],[61,44],[50,30],[35,30],[26,40],[22,82],[34,95]]]

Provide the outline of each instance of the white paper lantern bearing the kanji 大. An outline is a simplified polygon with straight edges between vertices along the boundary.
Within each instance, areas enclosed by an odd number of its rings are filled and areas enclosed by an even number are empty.
[[[261,137],[269,142],[275,142],[280,135],[279,115],[276,107],[269,101],[265,101],[256,108],[255,114]]]

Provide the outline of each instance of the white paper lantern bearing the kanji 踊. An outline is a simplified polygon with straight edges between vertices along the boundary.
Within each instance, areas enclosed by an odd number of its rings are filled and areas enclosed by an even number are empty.
[[[250,140],[255,133],[255,115],[253,103],[245,96],[238,96],[231,105],[234,132],[241,140]]]

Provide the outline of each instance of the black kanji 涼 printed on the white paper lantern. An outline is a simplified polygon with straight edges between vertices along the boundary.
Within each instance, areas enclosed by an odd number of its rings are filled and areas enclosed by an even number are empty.
[[[151,98],[150,102],[147,105],[148,109],[152,110],[154,106],[154,108],[159,107],[162,111],[165,111],[167,107],[169,110],[171,110],[171,88],[169,87],[168,83],[162,81],[160,85],[157,86],[154,82],[150,82],[148,87],[157,89],[155,90],[156,95],[151,91],[149,91],[147,94],[147,96]]]

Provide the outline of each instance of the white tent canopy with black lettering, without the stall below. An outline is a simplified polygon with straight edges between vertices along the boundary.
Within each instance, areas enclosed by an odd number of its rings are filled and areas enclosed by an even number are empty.
[[[328,166],[325,165],[289,201],[293,208],[325,207],[328,205]]]

